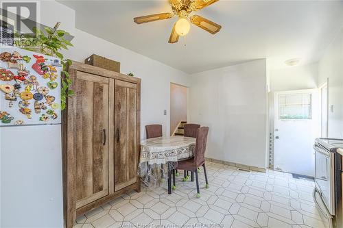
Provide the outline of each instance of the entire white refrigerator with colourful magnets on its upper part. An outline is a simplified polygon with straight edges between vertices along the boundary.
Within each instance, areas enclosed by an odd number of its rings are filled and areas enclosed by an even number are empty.
[[[63,227],[60,60],[0,47],[0,227]]]

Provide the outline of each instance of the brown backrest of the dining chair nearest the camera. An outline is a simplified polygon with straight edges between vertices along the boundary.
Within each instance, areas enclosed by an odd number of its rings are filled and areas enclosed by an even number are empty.
[[[208,134],[209,127],[200,127],[197,130],[196,152],[194,155],[194,162],[196,162],[197,167],[201,166],[205,162],[205,151]]]

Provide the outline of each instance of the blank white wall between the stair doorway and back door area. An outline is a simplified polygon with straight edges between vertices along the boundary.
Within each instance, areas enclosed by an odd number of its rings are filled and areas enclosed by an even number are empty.
[[[265,60],[191,75],[190,121],[209,126],[206,157],[265,168]]]

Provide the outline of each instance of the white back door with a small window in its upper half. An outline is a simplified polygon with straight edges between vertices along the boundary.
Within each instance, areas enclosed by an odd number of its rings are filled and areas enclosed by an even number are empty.
[[[274,169],[314,177],[315,138],[320,136],[318,89],[276,92]]]

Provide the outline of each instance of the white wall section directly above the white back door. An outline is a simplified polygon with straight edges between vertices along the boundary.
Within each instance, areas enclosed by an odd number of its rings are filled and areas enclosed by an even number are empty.
[[[270,90],[305,90],[318,87],[318,63],[270,71]]]

